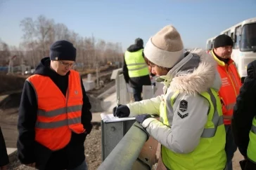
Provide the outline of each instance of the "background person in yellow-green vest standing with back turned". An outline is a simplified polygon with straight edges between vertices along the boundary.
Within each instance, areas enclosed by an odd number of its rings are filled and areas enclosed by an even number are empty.
[[[143,85],[151,85],[148,65],[143,57],[143,40],[136,38],[135,43],[124,52],[122,67],[124,80],[132,87],[134,100],[141,101]]]

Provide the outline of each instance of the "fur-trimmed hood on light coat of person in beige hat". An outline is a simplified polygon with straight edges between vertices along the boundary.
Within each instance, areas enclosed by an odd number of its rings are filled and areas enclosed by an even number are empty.
[[[221,81],[217,73],[217,63],[202,49],[186,52],[186,57],[172,68],[164,79],[165,86],[171,91],[186,94],[198,94],[213,87],[219,90]],[[169,84],[169,85],[167,85]]]

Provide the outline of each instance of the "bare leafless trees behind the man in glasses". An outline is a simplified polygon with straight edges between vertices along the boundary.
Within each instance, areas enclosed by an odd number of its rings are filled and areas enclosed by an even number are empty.
[[[20,27],[23,37],[18,47],[0,40],[0,66],[6,66],[9,58],[16,55],[14,65],[25,62],[26,65],[35,67],[41,58],[49,56],[49,47],[57,40],[67,40],[74,44],[77,48],[77,63],[84,69],[123,60],[121,43],[106,42],[93,35],[79,36],[65,24],[56,23],[44,15],[39,15],[36,20],[26,17],[20,22]]]

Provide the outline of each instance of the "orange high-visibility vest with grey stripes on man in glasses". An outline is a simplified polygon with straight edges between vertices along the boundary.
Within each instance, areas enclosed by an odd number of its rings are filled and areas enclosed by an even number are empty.
[[[27,78],[37,96],[35,141],[51,150],[68,145],[72,132],[85,132],[81,123],[82,85],[79,73],[70,70],[66,96],[48,76]]]

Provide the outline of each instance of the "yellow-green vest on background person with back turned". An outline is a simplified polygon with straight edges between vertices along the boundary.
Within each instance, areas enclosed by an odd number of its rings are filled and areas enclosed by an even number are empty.
[[[143,49],[136,52],[126,51],[124,54],[130,78],[149,75],[148,65],[142,56],[142,51]]]

